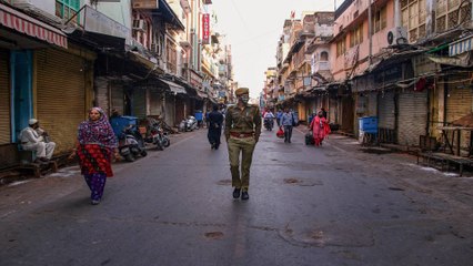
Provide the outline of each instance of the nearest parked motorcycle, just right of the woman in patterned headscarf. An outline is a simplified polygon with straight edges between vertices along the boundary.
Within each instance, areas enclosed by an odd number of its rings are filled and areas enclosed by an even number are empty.
[[[119,137],[119,153],[124,160],[133,162],[139,155],[148,155],[144,140],[135,125],[124,127],[122,133]]]

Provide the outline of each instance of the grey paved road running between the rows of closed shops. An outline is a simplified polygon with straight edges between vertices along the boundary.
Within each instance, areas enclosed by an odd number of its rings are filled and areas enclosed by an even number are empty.
[[[371,151],[371,150],[370,150]],[[77,167],[0,187],[0,265],[472,265],[473,178],[410,155],[264,131],[250,201],[203,130],[114,165],[92,206]]]

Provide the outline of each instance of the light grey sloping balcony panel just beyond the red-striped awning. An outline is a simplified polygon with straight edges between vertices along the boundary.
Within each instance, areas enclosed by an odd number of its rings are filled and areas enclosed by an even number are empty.
[[[85,6],[84,25],[85,31],[101,33],[105,35],[131,38],[131,31],[123,24],[110,19],[105,14]]]

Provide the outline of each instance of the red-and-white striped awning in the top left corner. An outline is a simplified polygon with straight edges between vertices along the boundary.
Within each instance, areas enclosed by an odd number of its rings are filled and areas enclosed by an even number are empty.
[[[68,37],[62,31],[1,3],[0,25],[61,48],[68,48]]]

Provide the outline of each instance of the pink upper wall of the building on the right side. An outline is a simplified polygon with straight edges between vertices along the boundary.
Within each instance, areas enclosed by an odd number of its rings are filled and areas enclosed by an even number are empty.
[[[373,2],[373,16],[374,10],[379,10],[384,6],[386,7],[386,27],[372,35],[372,58],[380,52],[383,52],[383,48],[389,45],[386,34],[392,28],[394,28],[394,0],[374,0]],[[368,3],[369,0],[353,1],[351,6],[335,20],[334,40],[336,41],[333,41],[330,45],[330,63],[335,81],[344,81],[353,78],[356,74],[363,73],[369,66],[370,38],[368,29]],[[353,20],[356,12],[358,17]],[[355,44],[350,48],[350,39],[352,38],[351,30],[361,23],[363,23],[363,41],[360,44]],[[342,33],[340,32],[341,25],[343,25]],[[343,39],[342,34],[345,35],[345,53],[338,57],[336,43],[341,40],[340,37]],[[351,69],[352,65],[355,65],[354,70]]]

